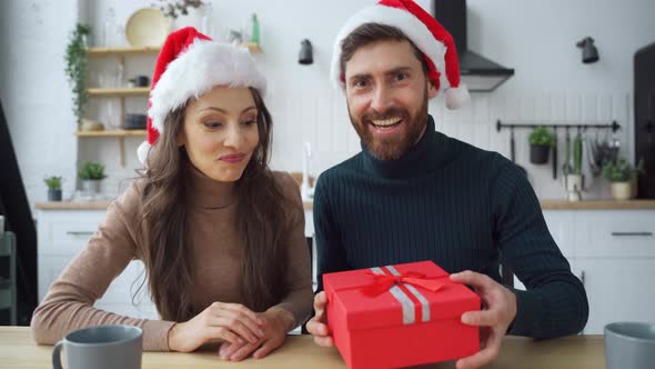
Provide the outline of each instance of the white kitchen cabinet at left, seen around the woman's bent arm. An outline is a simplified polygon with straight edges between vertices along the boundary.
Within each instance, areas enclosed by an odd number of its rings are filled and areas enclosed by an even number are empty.
[[[63,269],[85,246],[107,211],[39,209],[38,211],[38,270],[39,301],[59,278]],[[143,263],[131,261],[125,270],[109,286],[94,307],[133,318],[158,319],[154,303],[150,300],[148,286],[132,296],[143,280]]]

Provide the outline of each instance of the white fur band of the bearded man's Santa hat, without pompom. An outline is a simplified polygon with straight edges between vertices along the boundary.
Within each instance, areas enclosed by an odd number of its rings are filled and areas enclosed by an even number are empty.
[[[440,91],[445,91],[451,87],[445,73],[445,46],[435,39],[427,27],[411,12],[403,9],[376,4],[364,8],[352,16],[336,36],[330,70],[331,79],[335,88],[345,88],[341,81],[341,42],[357,27],[365,23],[380,23],[400,29],[434,63],[434,67],[440,72]]]

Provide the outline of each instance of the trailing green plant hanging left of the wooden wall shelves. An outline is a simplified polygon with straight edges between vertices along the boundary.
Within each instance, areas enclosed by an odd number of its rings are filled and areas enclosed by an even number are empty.
[[[70,36],[64,56],[64,71],[72,89],[73,113],[75,114],[78,128],[82,121],[87,101],[89,100],[89,92],[87,91],[87,78],[89,77],[89,34],[91,34],[91,27],[78,23]]]

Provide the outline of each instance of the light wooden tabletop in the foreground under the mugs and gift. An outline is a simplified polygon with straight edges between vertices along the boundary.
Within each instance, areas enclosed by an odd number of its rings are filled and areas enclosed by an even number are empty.
[[[0,327],[0,367],[6,369],[50,369],[52,346],[34,343],[29,327]],[[336,349],[314,345],[311,336],[290,336],[286,343],[271,356],[242,362],[222,361],[215,349],[193,353],[143,352],[143,369],[222,369],[222,368],[346,368]],[[453,362],[415,368],[454,368]],[[501,356],[486,369],[551,369],[605,368],[603,336],[572,336],[554,340],[535,341],[528,338],[506,337]]]

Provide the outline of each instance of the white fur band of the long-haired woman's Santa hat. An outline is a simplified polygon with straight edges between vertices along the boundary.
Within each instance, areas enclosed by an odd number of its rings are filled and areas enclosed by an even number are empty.
[[[168,64],[150,91],[152,128],[162,133],[171,111],[216,86],[252,87],[263,96],[266,80],[246,48],[196,39]]]

